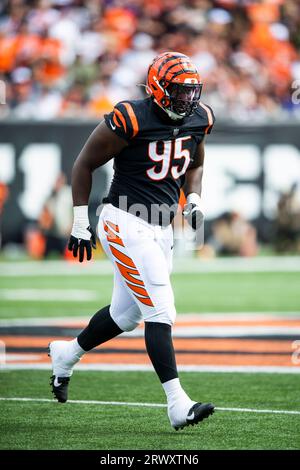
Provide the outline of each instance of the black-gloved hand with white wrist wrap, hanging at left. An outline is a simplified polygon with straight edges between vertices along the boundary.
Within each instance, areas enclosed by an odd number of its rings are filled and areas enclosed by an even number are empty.
[[[68,250],[82,263],[84,258],[92,258],[92,248],[96,248],[96,236],[89,224],[87,206],[74,207],[74,223],[68,243]]]

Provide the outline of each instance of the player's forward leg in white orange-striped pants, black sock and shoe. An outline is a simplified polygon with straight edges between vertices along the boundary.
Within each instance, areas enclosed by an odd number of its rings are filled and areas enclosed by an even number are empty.
[[[163,232],[114,208],[106,216],[109,256],[143,314],[146,348],[167,396],[170,422],[175,428],[195,424],[211,414],[213,406],[192,401],[178,378],[172,343],[176,311],[169,278],[171,227]],[[162,233],[168,233],[165,245]]]

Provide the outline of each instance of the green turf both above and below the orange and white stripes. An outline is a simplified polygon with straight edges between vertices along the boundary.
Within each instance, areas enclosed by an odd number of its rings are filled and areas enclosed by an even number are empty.
[[[1,265],[0,265],[1,274]],[[175,273],[178,312],[299,312],[300,272]],[[110,302],[112,276],[0,276],[0,318],[90,316]],[[72,292],[91,295],[72,298]],[[70,294],[69,294],[70,293]],[[60,295],[64,294],[66,300]],[[45,296],[45,297],[44,297]],[[45,300],[47,298],[48,300]],[[51,399],[50,371],[0,369],[0,397]],[[299,374],[183,372],[194,399],[217,410],[196,427],[175,432],[166,409],[56,402],[0,401],[1,449],[300,449]],[[74,373],[70,398],[165,403],[151,372]]]

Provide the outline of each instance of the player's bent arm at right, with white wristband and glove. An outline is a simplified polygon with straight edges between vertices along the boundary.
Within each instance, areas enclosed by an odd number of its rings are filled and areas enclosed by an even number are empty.
[[[187,199],[187,204],[184,207],[183,215],[195,230],[200,227],[204,219],[201,207],[203,164],[204,139],[197,146],[193,164],[186,172],[185,184],[183,187]]]

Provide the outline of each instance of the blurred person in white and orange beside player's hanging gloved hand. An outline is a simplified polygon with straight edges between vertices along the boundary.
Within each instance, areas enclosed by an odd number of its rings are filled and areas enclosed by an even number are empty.
[[[66,177],[62,173],[39,217],[39,226],[45,237],[45,257],[51,253],[64,254],[72,228],[72,208],[71,187],[66,184]]]

